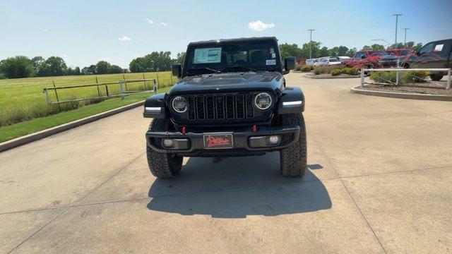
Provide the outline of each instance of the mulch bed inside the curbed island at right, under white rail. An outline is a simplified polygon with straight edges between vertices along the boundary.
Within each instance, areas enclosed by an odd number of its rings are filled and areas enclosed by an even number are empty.
[[[403,85],[388,85],[388,84],[365,84],[363,87],[356,87],[357,89],[380,91],[380,92],[404,92],[415,93],[422,95],[447,95],[452,96],[452,89],[445,89],[446,83],[415,83]]]

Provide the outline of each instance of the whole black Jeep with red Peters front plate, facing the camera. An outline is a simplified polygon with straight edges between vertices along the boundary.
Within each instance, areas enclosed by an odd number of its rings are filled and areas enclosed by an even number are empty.
[[[165,94],[146,99],[144,117],[151,173],[173,177],[183,157],[231,157],[280,152],[283,176],[307,167],[304,95],[283,74],[295,57],[280,58],[275,37],[189,44],[172,66],[181,78]]]

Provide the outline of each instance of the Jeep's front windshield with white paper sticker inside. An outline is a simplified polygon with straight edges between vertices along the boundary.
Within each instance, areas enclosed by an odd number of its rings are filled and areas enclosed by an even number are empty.
[[[196,45],[187,52],[186,73],[277,71],[280,69],[277,47],[272,41]]]

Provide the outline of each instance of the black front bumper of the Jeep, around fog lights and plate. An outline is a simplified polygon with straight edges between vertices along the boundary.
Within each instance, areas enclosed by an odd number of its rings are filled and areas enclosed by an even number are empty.
[[[150,148],[155,150],[155,152],[160,153],[177,153],[185,156],[208,156],[208,155],[218,155],[222,154],[225,157],[228,155],[236,156],[234,154],[247,155],[256,152],[270,152],[273,150],[280,150],[285,147],[289,147],[293,143],[296,143],[299,138],[300,128],[299,126],[294,127],[259,127],[259,130],[254,132],[251,128],[242,131],[218,131],[213,133],[208,131],[203,132],[187,132],[185,135],[181,132],[151,132],[146,133],[146,142]],[[233,147],[223,148],[223,149],[206,149],[204,147],[204,135],[215,135],[215,134],[232,134]],[[268,146],[268,147],[251,147],[249,138],[257,136],[269,136],[269,135],[280,135],[281,142],[279,145]],[[189,145],[186,149],[165,149],[160,144],[162,138],[172,138],[172,139],[188,139]]]

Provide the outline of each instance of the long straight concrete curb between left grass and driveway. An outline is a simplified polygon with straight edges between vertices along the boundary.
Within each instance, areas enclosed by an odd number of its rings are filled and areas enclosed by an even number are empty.
[[[37,133],[31,133],[31,134],[24,135],[24,136],[19,137],[19,138],[15,138],[13,140],[8,140],[8,141],[6,141],[4,143],[0,143],[0,152],[4,152],[6,150],[10,150],[10,149],[12,149],[14,147],[18,147],[20,145],[25,145],[25,144],[28,144],[28,143],[32,143],[33,141],[40,140],[42,138],[47,138],[50,135],[61,133],[63,131],[68,131],[71,128],[76,128],[78,126],[83,126],[86,123],[91,123],[93,121],[97,121],[99,119],[103,119],[103,118],[105,118],[107,116],[112,116],[114,114],[118,114],[118,113],[127,111],[129,109],[140,107],[143,104],[144,104],[144,101],[135,102],[133,104],[129,104],[129,105],[126,105],[126,106],[123,106],[123,107],[119,107],[117,109],[112,109],[112,110],[105,111],[105,112],[102,112],[102,113],[99,113],[99,114],[95,114],[93,116],[88,116],[88,117],[85,117],[84,119],[78,119],[76,121],[71,121],[69,123],[61,124],[60,126],[55,126],[55,127],[52,127],[52,128],[48,128],[46,130],[38,131]]]

